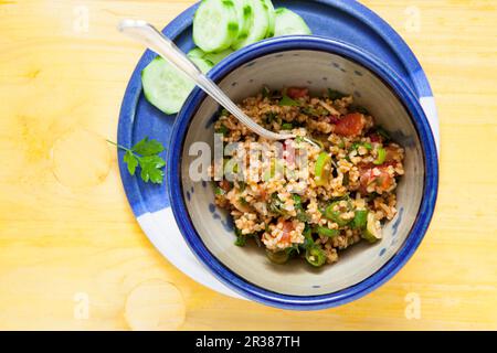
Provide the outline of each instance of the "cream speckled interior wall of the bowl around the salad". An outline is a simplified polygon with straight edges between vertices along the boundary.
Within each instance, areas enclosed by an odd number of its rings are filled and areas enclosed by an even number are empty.
[[[255,245],[236,247],[229,214],[214,206],[213,188],[193,182],[189,165],[197,156],[189,147],[197,141],[213,146],[212,118],[219,106],[203,100],[191,119],[181,156],[181,181],[191,222],[209,252],[246,281],[282,295],[318,296],[353,286],[385,265],[402,247],[416,218],[423,197],[424,159],[410,115],[396,95],[369,69],[342,56],[317,51],[294,50],[253,60],[232,71],[220,86],[235,101],[257,94],[263,85],[273,89],[307,86],[315,94],[334,88],[352,93],[405,148],[405,176],[398,188],[395,218],[385,224],[383,239],[374,245],[359,244],[339,253],[332,266],[314,269],[303,260],[274,265]]]

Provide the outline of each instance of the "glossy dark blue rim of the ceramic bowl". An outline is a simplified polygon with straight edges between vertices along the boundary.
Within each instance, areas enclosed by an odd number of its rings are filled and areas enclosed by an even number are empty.
[[[374,73],[403,103],[420,137],[424,157],[424,190],[416,220],[408,238],[393,257],[377,272],[362,281],[336,292],[319,296],[290,296],[266,290],[237,276],[218,260],[203,244],[190,220],[181,183],[181,156],[184,138],[191,119],[205,98],[205,94],[195,88],[180,111],[172,130],[171,150],[168,153],[168,183],[172,211],[187,244],[200,261],[223,284],[240,295],[257,302],[293,310],[318,310],[345,304],[373,291],[395,275],[411,258],[421,244],[436,204],[438,189],[438,161],[435,141],[426,116],[413,92],[385,64],[374,57],[363,55],[351,45],[319,36],[286,36],[266,40],[247,46],[230,55],[216,65],[209,77],[219,82],[233,69],[250,61],[274,53],[292,50],[315,50],[345,56]]]

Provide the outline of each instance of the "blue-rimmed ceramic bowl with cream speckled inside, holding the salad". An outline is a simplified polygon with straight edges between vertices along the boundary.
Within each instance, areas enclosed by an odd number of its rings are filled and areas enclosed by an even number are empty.
[[[352,93],[377,122],[405,148],[405,176],[398,188],[398,215],[383,239],[340,253],[332,266],[314,269],[305,261],[272,264],[257,247],[236,247],[230,216],[214,205],[213,188],[193,181],[194,142],[214,140],[219,106],[195,89],[179,114],[168,157],[168,183],[175,217],[197,257],[243,297],[285,309],[310,310],[349,302],[391,278],[420,245],[435,207],[438,167],[425,114],[414,94],[385,64],[359,47],[317,36],[267,40],[239,51],[209,74],[235,101],[261,92],[307,86]],[[193,156],[191,156],[193,154]],[[213,158],[211,156],[210,158]]]

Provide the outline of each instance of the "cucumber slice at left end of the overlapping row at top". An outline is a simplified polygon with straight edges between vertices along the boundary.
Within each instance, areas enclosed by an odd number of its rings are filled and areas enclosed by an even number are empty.
[[[231,0],[203,0],[193,19],[193,42],[205,53],[229,49],[239,35],[239,18]]]

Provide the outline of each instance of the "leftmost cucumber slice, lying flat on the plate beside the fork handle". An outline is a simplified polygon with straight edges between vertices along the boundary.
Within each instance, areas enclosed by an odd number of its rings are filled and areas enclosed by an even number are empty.
[[[141,72],[145,98],[166,114],[177,114],[195,86],[162,57],[156,57]]]

